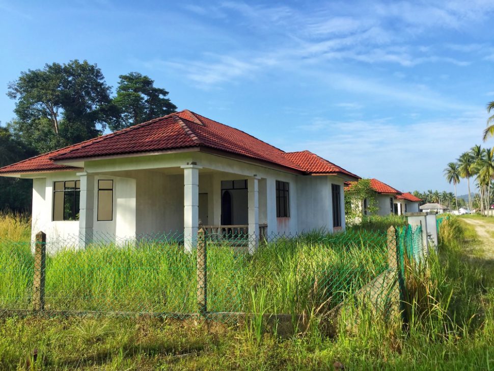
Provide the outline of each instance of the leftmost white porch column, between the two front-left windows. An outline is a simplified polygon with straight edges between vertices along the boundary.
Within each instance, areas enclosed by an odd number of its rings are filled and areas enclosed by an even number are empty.
[[[94,175],[76,174],[80,179],[79,197],[79,247],[85,248],[93,241]]]

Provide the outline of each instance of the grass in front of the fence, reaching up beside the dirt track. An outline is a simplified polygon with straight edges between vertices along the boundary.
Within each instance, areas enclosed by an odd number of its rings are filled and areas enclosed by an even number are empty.
[[[249,324],[9,318],[0,320],[0,369],[332,369],[334,362],[346,369],[494,368],[492,271],[464,255],[465,244],[476,240],[457,219],[443,223],[440,239],[428,269],[407,270],[406,331],[365,309],[358,331],[336,338],[325,337],[317,322],[307,333],[280,338]]]

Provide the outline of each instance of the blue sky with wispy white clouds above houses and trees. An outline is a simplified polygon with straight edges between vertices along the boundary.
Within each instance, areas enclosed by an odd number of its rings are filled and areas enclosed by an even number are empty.
[[[0,0],[0,121],[20,71],[87,59],[109,85],[147,74],[179,109],[284,150],[402,191],[452,191],[442,171],[481,143],[494,100],[493,16],[483,0]]]

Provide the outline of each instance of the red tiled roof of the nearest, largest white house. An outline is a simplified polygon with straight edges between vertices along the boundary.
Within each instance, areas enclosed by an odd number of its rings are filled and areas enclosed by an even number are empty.
[[[303,174],[359,177],[309,151],[285,152],[241,130],[184,110],[0,168],[0,174],[80,169],[60,161],[101,156],[209,148],[275,164]]]

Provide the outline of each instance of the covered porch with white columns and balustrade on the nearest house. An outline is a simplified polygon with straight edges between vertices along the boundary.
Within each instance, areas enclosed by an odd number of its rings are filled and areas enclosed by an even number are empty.
[[[138,241],[161,235],[183,242],[184,249],[190,251],[203,227],[210,239],[234,239],[252,253],[269,233],[269,219],[276,224],[274,184],[268,192],[268,183],[275,180],[255,174],[219,171],[191,162],[77,175],[79,237],[86,246],[101,234]],[[108,187],[107,180],[113,180],[113,199],[111,204],[102,204],[101,184]],[[102,210],[105,207],[111,207],[111,212]],[[113,217],[101,220],[104,213]]]

